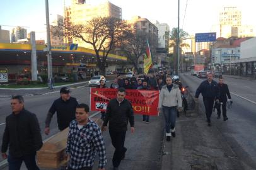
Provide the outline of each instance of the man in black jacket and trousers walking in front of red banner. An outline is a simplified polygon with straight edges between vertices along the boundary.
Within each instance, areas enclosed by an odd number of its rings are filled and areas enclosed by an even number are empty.
[[[128,120],[131,125],[131,132],[134,133],[134,115],[130,101],[124,98],[125,89],[119,88],[117,98],[111,99],[107,106],[105,120],[102,131],[107,130],[109,121],[109,133],[112,145],[115,147],[113,154],[113,169],[118,169],[119,164],[125,157],[126,148],[124,147],[125,133],[127,131]]]

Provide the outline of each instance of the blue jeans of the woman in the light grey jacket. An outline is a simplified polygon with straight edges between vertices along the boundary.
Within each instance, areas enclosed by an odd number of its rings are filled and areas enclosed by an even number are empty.
[[[167,107],[163,106],[163,115],[165,116],[165,132],[170,133],[170,128],[174,130],[176,116],[177,116],[177,106]]]

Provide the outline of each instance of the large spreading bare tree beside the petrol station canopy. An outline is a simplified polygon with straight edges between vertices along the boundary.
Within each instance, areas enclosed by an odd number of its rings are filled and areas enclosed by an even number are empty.
[[[60,21],[54,28],[54,35],[72,37],[91,44],[96,54],[97,67],[105,75],[107,57],[116,44],[124,40],[131,26],[126,21],[110,17],[98,17],[84,25]],[[64,31],[59,31],[64,30]],[[102,55],[102,56],[101,56]]]

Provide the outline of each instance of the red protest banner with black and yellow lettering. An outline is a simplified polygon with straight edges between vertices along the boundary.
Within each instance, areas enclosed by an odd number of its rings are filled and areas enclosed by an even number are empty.
[[[108,101],[117,98],[117,89],[91,88],[91,111],[105,111]],[[125,99],[132,103],[134,113],[140,115],[158,115],[159,91],[127,89]]]

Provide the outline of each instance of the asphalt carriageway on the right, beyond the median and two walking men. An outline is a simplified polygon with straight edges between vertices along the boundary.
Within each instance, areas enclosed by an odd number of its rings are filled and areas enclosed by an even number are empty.
[[[181,77],[185,79],[192,93],[205,80],[190,76],[189,73],[181,74]],[[256,169],[256,81],[224,76],[224,82],[230,89],[233,107],[227,110],[227,122],[216,120],[215,112],[212,114],[212,123],[244,166]],[[202,103],[202,97],[199,100]]]

